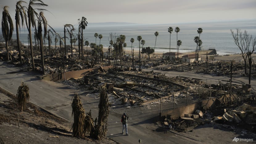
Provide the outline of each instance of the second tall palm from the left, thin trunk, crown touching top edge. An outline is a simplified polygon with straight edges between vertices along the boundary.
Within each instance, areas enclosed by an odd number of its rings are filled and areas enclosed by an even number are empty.
[[[18,49],[19,49],[19,62],[20,65],[22,65],[22,56],[21,56],[21,48],[20,48],[20,40],[19,40],[19,29],[20,29],[20,22],[21,22],[21,26],[24,26],[24,18],[26,16],[26,12],[25,12],[25,6],[22,6],[22,2],[24,1],[18,1],[16,3],[16,13],[15,13],[15,22],[16,22],[16,37],[17,37],[17,45],[18,45]],[[25,2],[27,3],[27,2]]]

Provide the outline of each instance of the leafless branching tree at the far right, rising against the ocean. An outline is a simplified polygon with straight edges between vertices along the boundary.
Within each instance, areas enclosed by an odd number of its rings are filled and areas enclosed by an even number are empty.
[[[245,66],[245,74],[247,74],[247,59],[249,57],[249,54],[253,53],[255,48],[252,50],[249,50],[250,43],[252,41],[252,36],[247,34],[247,31],[245,30],[242,32],[240,29],[236,29],[236,31],[230,30],[232,37],[234,38],[235,44],[238,46],[238,48],[241,50],[242,57],[244,59],[244,66]]]

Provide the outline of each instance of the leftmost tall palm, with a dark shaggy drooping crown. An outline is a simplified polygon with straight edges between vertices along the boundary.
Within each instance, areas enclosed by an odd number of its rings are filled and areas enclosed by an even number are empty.
[[[13,32],[12,19],[8,11],[8,6],[4,6],[4,10],[2,13],[2,34],[5,40],[6,54],[7,54],[8,61],[9,61],[8,42],[11,40],[12,32]]]

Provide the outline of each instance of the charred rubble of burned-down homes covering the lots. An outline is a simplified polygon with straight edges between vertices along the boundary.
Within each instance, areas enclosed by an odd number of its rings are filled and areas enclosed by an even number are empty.
[[[25,50],[24,50],[25,51]],[[93,66],[104,66],[114,64],[114,59],[110,62],[95,61],[89,55],[83,59],[71,58],[70,55],[62,57],[60,50],[55,50],[52,55],[45,56],[45,71],[47,74],[61,73],[65,71],[76,71],[87,69]],[[1,50],[1,60],[5,59],[4,49]],[[36,70],[42,71],[40,54],[35,52]],[[75,55],[75,54],[74,54]],[[11,63],[19,65],[18,52],[11,51]],[[21,71],[32,70],[29,56],[24,55],[24,64]],[[177,131],[190,131],[203,123],[236,123],[240,125],[250,125],[250,130],[254,130],[255,122],[255,94],[250,92],[250,86],[238,86],[229,82],[207,85],[200,79],[165,76],[164,71],[181,71],[208,73],[215,75],[230,75],[230,62],[215,61],[208,63],[186,63],[182,61],[167,62],[162,59],[144,59],[142,68],[163,70],[163,73],[137,71],[138,60],[134,58],[134,69],[132,58],[123,57],[123,68],[98,71],[81,78],[70,78],[64,83],[70,87],[80,89],[80,95],[98,94],[102,86],[106,86],[109,102],[111,106],[145,106],[159,103],[173,103],[176,108],[188,106],[204,99],[215,97],[218,104],[214,109],[199,108],[193,114],[173,119],[166,116],[160,124],[167,129]],[[129,67],[130,66],[130,67]],[[64,69],[63,69],[64,67]],[[233,64],[233,74],[242,75],[243,66],[240,63]],[[252,74],[254,77],[254,74]],[[200,87],[200,90],[199,88]],[[249,91],[249,92],[248,92]],[[174,100],[175,99],[175,100]],[[239,108],[240,106],[240,108]],[[247,107],[247,108],[241,108]],[[237,110],[239,109],[239,110]],[[247,111],[249,110],[249,112]]]

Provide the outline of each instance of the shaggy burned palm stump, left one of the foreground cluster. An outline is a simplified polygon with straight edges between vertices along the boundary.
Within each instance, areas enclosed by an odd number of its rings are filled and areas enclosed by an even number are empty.
[[[81,102],[81,98],[78,94],[75,94],[72,101],[72,116],[74,118],[73,123],[73,136],[83,137],[85,127],[85,109]]]

